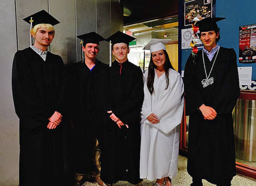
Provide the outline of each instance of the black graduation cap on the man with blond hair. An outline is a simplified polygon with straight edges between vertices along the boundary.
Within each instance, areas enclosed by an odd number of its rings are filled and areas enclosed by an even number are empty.
[[[54,26],[55,24],[60,23],[57,19],[55,19],[53,16],[51,16],[45,10],[41,10],[37,13],[34,13],[34,14],[24,18],[23,20],[30,24],[31,17],[33,20],[33,22],[32,22],[33,26],[35,26],[37,24],[41,24],[41,23],[51,24],[52,26]]]

